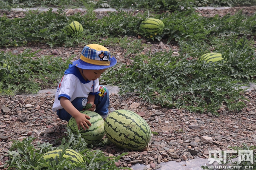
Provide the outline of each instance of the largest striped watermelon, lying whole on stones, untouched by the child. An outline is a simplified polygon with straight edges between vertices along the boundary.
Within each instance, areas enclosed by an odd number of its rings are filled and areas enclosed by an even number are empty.
[[[104,122],[104,130],[113,144],[129,150],[145,149],[151,138],[147,122],[137,113],[128,110],[120,109],[110,113]]]

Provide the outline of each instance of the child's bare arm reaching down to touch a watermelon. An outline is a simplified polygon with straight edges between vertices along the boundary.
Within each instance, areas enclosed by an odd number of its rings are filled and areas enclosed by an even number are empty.
[[[89,126],[91,125],[90,116],[87,116],[86,114],[80,113],[70,102],[69,99],[66,97],[61,97],[60,99],[61,106],[67,111],[67,113],[70,113],[71,116],[73,116],[76,119],[76,123],[78,126],[78,129],[80,130],[80,125],[83,127],[84,130],[89,129]],[[88,126],[89,125],[89,126]],[[85,127],[86,128],[85,128]]]

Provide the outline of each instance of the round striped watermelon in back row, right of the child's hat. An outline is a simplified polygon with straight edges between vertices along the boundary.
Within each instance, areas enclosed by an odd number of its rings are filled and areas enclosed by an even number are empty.
[[[140,23],[141,31],[151,35],[161,34],[163,27],[163,21],[155,18],[147,18]]]

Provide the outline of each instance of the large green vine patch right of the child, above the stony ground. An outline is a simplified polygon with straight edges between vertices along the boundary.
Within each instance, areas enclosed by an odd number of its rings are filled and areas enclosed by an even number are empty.
[[[227,105],[230,110],[239,111],[245,106],[239,102],[243,99],[239,86],[255,81],[255,52],[245,37],[230,41],[216,47],[225,61],[201,64],[188,60],[188,55],[171,57],[172,51],[149,53],[137,55],[130,67],[115,68],[113,79],[124,89],[122,94],[137,91],[145,101],[166,107],[217,115],[218,108]]]

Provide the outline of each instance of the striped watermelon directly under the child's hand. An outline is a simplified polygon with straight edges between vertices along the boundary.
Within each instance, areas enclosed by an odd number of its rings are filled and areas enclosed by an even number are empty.
[[[102,116],[93,111],[81,111],[81,113],[90,116],[90,122],[92,124],[91,126],[89,126],[89,129],[80,129],[79,132],[81,134],[81,137],[84,138],[87,144],[98,144],[105,134],[103,126],[104,120]],[[70,129],[74,132],[78,131],[76,119],[71,117],[71,119],[67,123],[67,127],[70,127]]]

